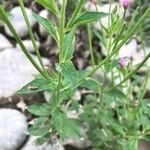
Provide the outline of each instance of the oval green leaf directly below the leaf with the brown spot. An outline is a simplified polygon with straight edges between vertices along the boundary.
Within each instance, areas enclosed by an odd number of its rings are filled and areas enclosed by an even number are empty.
[[[36,116],[50,116],[50,106],[46,103],[34,104],[27,109],[31,114]]]

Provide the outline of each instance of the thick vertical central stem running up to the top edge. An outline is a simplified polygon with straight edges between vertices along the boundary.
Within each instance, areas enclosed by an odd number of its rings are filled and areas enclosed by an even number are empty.
[[[61,16],[60,16],[60,22],[59,22],[59,62],[61,62],[62,53],[63,53],[63,44],[64,44],[64,28],[65,28],[65,10],[66,10],[67,0],[63,0],[62,7],[61,7]]]

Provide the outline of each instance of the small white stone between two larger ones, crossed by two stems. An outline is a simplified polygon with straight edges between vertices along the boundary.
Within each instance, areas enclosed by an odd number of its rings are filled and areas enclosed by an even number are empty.
[[[26,47],[31,53],[34,52],[34,47],[33,47],[33,44],[32,44],[32,41],[31,41],[31,40],[24,40],[24,41],[22,41],[22,42],[23,42],[23,44],[25,45],[25,47]],[[40,43],[39,43],[38,41],[36,41],[36,46],[37,46],[37,48],[40,47]],[[17,44],[16,47],[17,47],[18,49],[21,49],[20,46],[19,46],[19,44]]]

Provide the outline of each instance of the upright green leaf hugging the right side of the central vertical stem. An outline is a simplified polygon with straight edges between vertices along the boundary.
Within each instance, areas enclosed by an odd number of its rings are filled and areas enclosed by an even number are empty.
[[[65,36],[65,39],[64,39],[64,48],[62,52],[63,62],[72,59],[74,46],[75,46],[75,36],[74,36],[74,33],[70,32]]]

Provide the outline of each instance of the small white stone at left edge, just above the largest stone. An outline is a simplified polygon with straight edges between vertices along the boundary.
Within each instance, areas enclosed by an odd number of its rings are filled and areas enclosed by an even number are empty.
[[[0,50],[13,47],[13,45],[8,41],[8,39],[2,34],[0,34],[0,41],[1,41]]]

